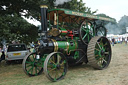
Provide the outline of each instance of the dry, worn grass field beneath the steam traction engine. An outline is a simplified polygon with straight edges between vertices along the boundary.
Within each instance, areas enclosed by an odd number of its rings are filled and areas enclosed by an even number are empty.
[[[21,64],[0,63],[0,85],[127,85],[128,45],[112,46],[112,60],[107,69],[95,70],[91,66],[70,67],[65,78],[58,82],[49,81],[44,73],[28,77]]]

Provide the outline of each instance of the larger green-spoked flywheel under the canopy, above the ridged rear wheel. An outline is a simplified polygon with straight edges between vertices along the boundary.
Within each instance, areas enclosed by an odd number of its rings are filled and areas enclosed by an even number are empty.
[[[89,21],[84,21],[79,29],[79,36],[83,43],[87,44],[94,36],[93,25]]]

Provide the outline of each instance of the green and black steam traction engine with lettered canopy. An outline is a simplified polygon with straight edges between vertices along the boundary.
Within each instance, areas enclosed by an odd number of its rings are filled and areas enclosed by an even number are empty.
[[[29,76],[43,71],[51,81],[63,79],[68,65],[88,63],[96,69],[108,67],[111,46],[103,25],[96,20],[114,21],[66,9],[48,10],[41,6],[41,39],[36,52],[23,60],[23,70]]]

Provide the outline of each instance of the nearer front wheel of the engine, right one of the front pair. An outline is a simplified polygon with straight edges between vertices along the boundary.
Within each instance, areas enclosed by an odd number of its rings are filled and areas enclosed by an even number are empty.
[[[66,57],[60,52],[53,52],[46,57],[44,62],[44,73],[51,81],[64,78],[67,73]]]

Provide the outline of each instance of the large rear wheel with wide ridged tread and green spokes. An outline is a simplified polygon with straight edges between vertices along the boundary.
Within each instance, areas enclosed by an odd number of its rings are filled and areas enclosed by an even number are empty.
[[[96,69],[108,67],[111,61],[111,45],[106,37],[93,37],[87,49],[88,63]]]

